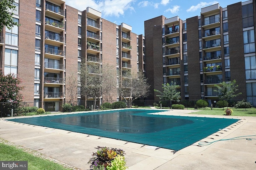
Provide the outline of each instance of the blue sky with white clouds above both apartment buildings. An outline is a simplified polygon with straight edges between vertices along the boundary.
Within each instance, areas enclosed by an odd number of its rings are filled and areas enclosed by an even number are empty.
[[[246,1],[246,0],[244,0]],[[244,2],[242,1],[242,2]],[[200,16],[201,8],[219,3],[222,8],[241,0],[66,0],[66,5],[80,11],[87,7],[102,13],[102,18],[132,26],[132,32],[144,35],[144,21],[157,16],[186,20]]]

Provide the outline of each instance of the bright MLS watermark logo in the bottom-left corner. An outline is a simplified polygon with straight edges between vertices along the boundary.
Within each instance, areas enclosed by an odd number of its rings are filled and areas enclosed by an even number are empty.
[[[28,170],[28,161],[0,161],[0,170]]]

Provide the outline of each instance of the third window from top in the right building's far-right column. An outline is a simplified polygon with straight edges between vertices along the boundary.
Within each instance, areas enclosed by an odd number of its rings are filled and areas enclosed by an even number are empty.
[[[245,61],[245,76],[246,80],[255,80],[256,79],[256,57],[244,57]]]

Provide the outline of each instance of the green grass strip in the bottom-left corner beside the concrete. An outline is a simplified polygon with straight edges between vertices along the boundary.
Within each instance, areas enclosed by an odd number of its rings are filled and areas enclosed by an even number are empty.
[[[71,170],[4,143],[0,143],[0,159],[2,161],[28,161],[28,170]]]

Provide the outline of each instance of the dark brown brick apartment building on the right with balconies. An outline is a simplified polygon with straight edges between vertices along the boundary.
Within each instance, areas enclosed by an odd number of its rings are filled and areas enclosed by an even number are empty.
[[[221,82],[236,80],[242,95],[256,106],[256,2],[249,0],[201,9],[186,20],[159,16],[145,21],[146,76],[153,89],[176,82],[182,99],[208,100]]]

